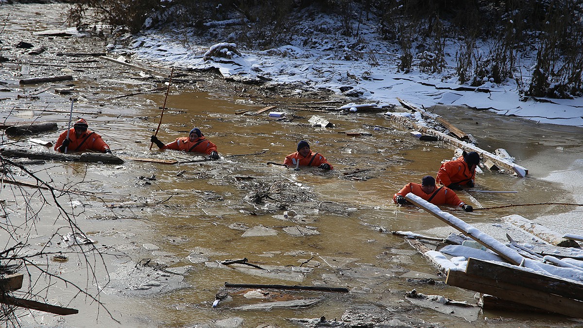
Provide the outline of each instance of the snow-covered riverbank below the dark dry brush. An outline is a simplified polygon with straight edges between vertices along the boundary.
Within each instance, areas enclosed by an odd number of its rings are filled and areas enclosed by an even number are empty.
[[[444,72],[424,74],[414,67],[409,74],[403,74],[397,68],[398,48],[381,41],[375,32],[378,24],[374,18],[361,22],[359,35],[353,37],[340,36],[340,20],[331,16],[319,14],[296,22],[301,33],[290,37],[288,45],[264,51],[244,49],[233,43],[232,30],[227,30],[227,24],[222,22],[209,23],[213,27],[207,37],[176,29],[170,32],[152,29],[129,36],[128,47],[111,46],[110,50],[168,66],[217,68],[224,76],[235,79],[269,79],[268,83],[296,86],[298,96],[302,90],[328,88],[360,95],[364,102],[398,104],[396,97],[401,97],[426,108],[435,104],[468,106],[539,123],[583,127],[583,99],[524,98],[514,80],[500,85],[485,81],[479,88],[467,85],[461,88],[453,74],[454,57],[459,49],[455,40],[447,41]],[[226,23],[233,24],[232,20]],[[486,54],[488,47],[483,44],[481,51]],[[220,56],[205,55],[211,49]],[[532,53],[519,58],[522,85],[528,85],[534,57]]]

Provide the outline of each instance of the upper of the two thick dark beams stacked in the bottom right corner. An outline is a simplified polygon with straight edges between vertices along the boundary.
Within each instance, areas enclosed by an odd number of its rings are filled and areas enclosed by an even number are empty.
[[[508,267],[497,263],[470,258],[468,260],[466,274],[583,301],[583,284],[521,270],[520,267]],[[486,292],[486,294],[490,293]],[[581,305],[583,305],[583,303],[581,303]]]

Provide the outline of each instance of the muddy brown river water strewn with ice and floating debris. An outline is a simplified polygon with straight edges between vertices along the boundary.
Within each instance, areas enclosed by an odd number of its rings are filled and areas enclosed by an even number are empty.
[[[51,13],[44,6],[10,7],[13,15],[22,22],[16,19],[4,33],[20,31],[15,35],[31,39],[22,29],[55,29],[62,23],[62,16],[58,16],[57,11],[52,12],[54,16],[51,19],[39,18],[36,13],[40,11]],[[0,9],[6,10],[7,7],[2,5]],[[31,22],[30,17],[36,18],[34,27],[27,26]],[[14,40],[10,39],[10,44],[15,43]],[[70,103],[68,95],[55,93],[54,88],[62,88],[68,83],[31,86],[17,83],[22,76],[22,66],[26,65],[22,62],[73,60],[59,59],[54,55],[54,43],[57,42],[54,39],[38,42],[49,47],[46,58],[28,57],[21,53],[20,60],[2,66],[2,81],[7,82],[5,87],[9,89],[2,96],[7,98],[1,103],[2,119],[56,121],[62,131],[68,120],[66,111]],[[58,42],[61,44],[61,40]],[[97,46],[100,43],[104,46],[106,42],[99,41]],[[82,46],[83,40],[72,39],[64,44],[68,44],[69,51],[87,51],[86,46]],[[161,81],[144,79],[136,71],[103,61],[82,65],[91,68],[72,69],[73,74],[79,76],[73,82],[79,90],[75,96],[81,96],[75,103],[75,110],[92,114],[76,115],[85,117],[90,129],[103,135],[118,156],[178,159],[181,162],[201,159],[201,156],[187,153],[160,152],[155,145],[153,151],[149,150],[149,136],[156,129],[160,107],[164,103],[163,93],[112,99],[135,90],[161,86]],[[29,75],[42,74],[46,72],[43,69],[48,69],[40,65],[30,65],[30,68]],[[60,69],[62,72],[64,68],[50,69]],[[64,72],[68,71],[65,69]],[[212,75],[207,78],[212,79]],[[17,97],[47,87],[50,89],[40,93],[38,99]],[[241,317],[244,327],[255,327],[261,323],[289,327],[296,325],[287,318],[325,316],[340,319],[346,309],[364,309],[371,303],[448,327],[465,327],[468,324],[479,327],[491,324],[503,327],[576,325],[559,316],[491,311],[480,314],[477,320],[469,323],[461,317],[410,305],[403,294],[413,288],[423,294],[475,302],[473,292],[444,284],[422,284],[401,277],[413,271],[419,272],[419,277],[427,275],[444,281],[436,268],[408,243],[387,233],[427,231],[444,225],[416,208],[396,207],[392,196],[408,182],[419,182],[427,174],[435,175],[441,160],[451,158],[453,151],[438,142],[422,142],[413,138],[409,131],[392,126],[382,113],[317,113],[335,124],[335,127],[326,129],[307,124],[308,118],[316,114],[310,111],[284,109],[287,114],[283,119],[268,117],[266,113],[235,114],[239,109],[258,110],[268,104],[266,99],[259,99],[251,91],[246,96],[243,89],[249,87],[234,86],[231,90],[223,88],[214,91],[209,90],[209,84],[197,86],[196,83],[181,83],[171,88],[168,95],[159,138],[170,142],[186,135],[192,127],[199,127],[206,137],[217,144],[222,155],[220,160],[177,165],[132,160],[126,160],[124,165],[26,164],[38,177],[52,180],[62,189],[90,191],[97,196],[65,195],[57,198],[75,214],[76,224],[96,240],[94,245],[102,252],[101,256],[89,256],[95,280],[89,271],[90,279],[86,282],[85,257],[71,253],[78,249],[65,248],[62,243],[57,243],[60,241],[58,237],[52,239],[48,250],[68,252],[69,261],[60,263],[39,259],[37,263],[46,265],[45,268],[51,273],[74,281],[90,293],[95,294],[99,286],[100,301],[120,323],[84,296],[69,302],[76,294],[75,288],[57,282],[48,292],[43,291],[43,296],[46,296],[47,302],[79,309],[79,315],[58,317],[35,312],[34,317],[27,315],[22,319],[23,326],[182,327]],[[289,102],[313,100],[289,99]],[[284,108],[285,105],[280,103]],[[549,183],[544,178],[550,172],[563,169],[563,165],[574,159],[581,158],[581,128],[539,125],[487,111],[448,107],[432,110],[474,135],[483,149],[493,151],[505,148],[518,159],[519,165],[529,169],[529,175],[524,179],[484,170],[477,176],[478,187],[519,191],[517,194],[472,193],[484,207],[573,200],[570,190]],[[349,137],[347,131],[359,131],[362,135]],[[54,142],[59,132],[36,137]],[[2,138],[5,144],[14,142],[16,146],[42,150],[41,146],[29,144],[26,138],[15,139],[5,135]],[[268,162],[282,163],[288,153],[295,151],[300,139],[308,140],[312,149],[326,156],[335,169],[322,172],[303,168],[296,172],[282,166],[268,165]],[[357,169],[368,171],[355,174],[356,179],[343,175]],[[17,231],[20,236],[16,239],[27,240],[30,244],[28,252],[40,249],[53,233],[66,235],[71,231],[57,208],[41,201],[38,191],[25,188],[24,196],[19,193],[15,187],[4,185],[0,198],[7,201],[4,207],[10,222],[23,222],[27,213],[30,216],[30,210],[40,211],[32,232],[26,233],[29,230],[24,228]],[[268,194],[273,199],[264,198],[263,203],[254,203],[252,197],[257,193]],[[460,197],[472,204],[466,194],[460,194]],[[23,198],[26,198],[26,203]],[[533,206],[473,213],[450,210],[470,224],[482,224],[498,222],[499,218],[510,214],[536,219],[542,214],[560,214],[569,209]],[[283,217],[285,211],[288,218]],[[276,235],[243,236],[245,229],[255,226],[270,228]],[[319,234],[297,235],[293,229],[288,229],[294,226]],[[581,227],[577,229],[581,230]],[[0,237],[9,240],[4,231],[0,232]],[[259,266],[278,266],[272,270],[273,273],[287,268],[289,275],[274,278],[216,267],[216,261],[243,257]],[[143,260],[157,263],[158,268],[163,270],[188,267],[184,281],[173,281],[174,274],[156,275],[161,272],[156,271],[152,273],[151,280],[155,282],[152,283],[138,274],[141,270],[138,263],[144,263]],[[296,271],[292,272],[291,267]],[[33,277],[36,277],[37,271],[31,270]],[[297,272],[302,270],[307,272]],[[106,284],[108,274],[111,282]],[[134,279],[134,276],[139,279]],[[41,281],[34,287],[35,290],[41,290],[46,284],[57,280],[43,278]],[[215,294],[222,289],[224,282],[333,285],[347,287],[351,292],[291,293],[291,296],[300,298],[323,297],[317,305],[302,309],[234,310],[244,303],[257,302],[242,296],[234,296],[233,301],[222,302],[217,308],[212,308]],[[275,299],[284,299],[273,291],[271,294]]]

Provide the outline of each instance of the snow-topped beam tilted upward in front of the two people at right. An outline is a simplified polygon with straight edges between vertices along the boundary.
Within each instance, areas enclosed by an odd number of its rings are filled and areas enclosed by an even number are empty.
[[[426,210],[427,212],[429,212],[429,214],[440,219],[446,224],[452,226],[459,232],[463,233],[463,235],[468,236],[473,240],[476,240],[476,242],[482,244],[484,247],[490,249],[492,252],[498,254],[498,256],[502,257],[508,262],[518,265],[521,263],[522,259],[524,259],[524,257],[522,257],[521,254],[519,254],[513,249],[510,249],[503,243],[498,242],[498,240],[493,238],[490,238],[488,240],[484,239],[482,235],[485,234],[483,234],[481,231],[466,224],[465,222],[463,222],[463,220],[456,218],[451,214],[442,212],[436,205],[427,202],[423,198],[415,196],[413,193],[409,193],[405,196],[405,199],[417,205],[418,207],[423,208],[423,210]]]

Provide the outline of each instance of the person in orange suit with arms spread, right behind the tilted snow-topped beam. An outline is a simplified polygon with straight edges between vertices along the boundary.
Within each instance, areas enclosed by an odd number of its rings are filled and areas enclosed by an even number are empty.
[[[405,196],[409,193],[413,193],[434,205],[448,204],[461,207],[466,212],[473,211],[471,205],[467,205],[459,200],[455,191],[445,186],[437,188],[436,179],[433,179],[432,176],[424,176],[421,180],[421,184],[414,182],[406,184],[403,189],[393,196],[393,201],[399,205],[408,204],[409,202],[405,199]]]

